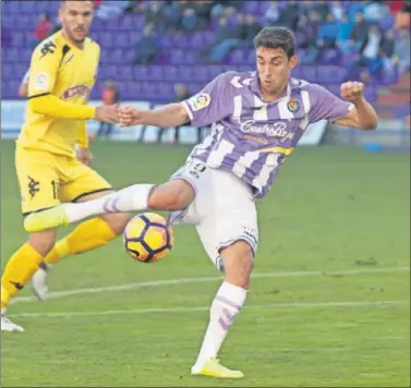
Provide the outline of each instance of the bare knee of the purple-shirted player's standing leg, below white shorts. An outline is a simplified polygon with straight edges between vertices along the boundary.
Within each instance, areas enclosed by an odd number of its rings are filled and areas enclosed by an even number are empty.
[[[245,241],[221,250],[226,280],[234,286],[249,289],[250,278],[254,267],[254,252]]]

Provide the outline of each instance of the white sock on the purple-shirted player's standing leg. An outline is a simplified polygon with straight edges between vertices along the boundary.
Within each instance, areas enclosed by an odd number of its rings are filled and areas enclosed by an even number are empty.
[[[245,302],[246,293],[245,289],[227,281],[221,284],[211,303],[207,331],[194,371],[202,368],[210,357],[217,356],[228,329]]]

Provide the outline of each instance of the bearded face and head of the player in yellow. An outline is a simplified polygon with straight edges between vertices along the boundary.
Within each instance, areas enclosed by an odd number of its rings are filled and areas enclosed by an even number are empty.
[[[82,44],[87,37],[93,16],[92,1],[65,1],[59,13],[63,32],[76,44]]]

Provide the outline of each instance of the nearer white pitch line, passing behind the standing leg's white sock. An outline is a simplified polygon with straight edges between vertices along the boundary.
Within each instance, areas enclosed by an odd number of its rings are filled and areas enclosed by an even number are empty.
[[[254,304],[249,308],[327,308],[327,307],[388,307],[398,305],[410,305],[409,301],[358,301],[358,302],[313,302],[313,303],[271,303]],[[153,313],[188,313],[208,311],[209,306],[203,307],[170,307],[170,308],[136,308],[136,310],[106,310],[99,312],[61,312],[61,313],[21,313],[11,314],[14,318],[53,318],[53,317],[76,317],[76,316],[99,316],[120,314],[153,314]]]

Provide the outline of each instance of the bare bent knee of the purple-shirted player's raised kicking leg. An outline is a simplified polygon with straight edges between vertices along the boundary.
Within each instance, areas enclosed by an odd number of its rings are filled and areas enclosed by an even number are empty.
[[[194,199],[193,187],[183,180],[167,182],[155,187],[148,198],[153,210],[182,210]]]

